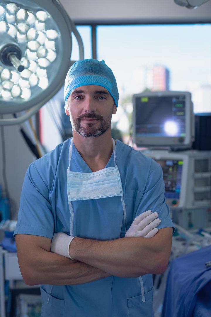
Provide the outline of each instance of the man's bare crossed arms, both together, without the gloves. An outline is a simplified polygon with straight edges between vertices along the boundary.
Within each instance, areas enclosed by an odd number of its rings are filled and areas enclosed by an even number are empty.
[[[110,241],[74,238],[70,254],[75,260],[50,252],[51,239],[16,234],[18,262],[28,285],[75,285],[109,275],[138,277],[165,271],[171,252],[172,228],[152,238],[126,237]]]

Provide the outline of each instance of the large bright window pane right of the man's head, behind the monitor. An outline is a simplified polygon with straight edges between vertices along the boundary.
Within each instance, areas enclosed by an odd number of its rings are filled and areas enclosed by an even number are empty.
[[[96,34],[97,59],[116,77],[113,124],[122,132],[130,126],[132,95],[145,89],[189,91],[195,113],[211,112],[211,24],[99,25]]]

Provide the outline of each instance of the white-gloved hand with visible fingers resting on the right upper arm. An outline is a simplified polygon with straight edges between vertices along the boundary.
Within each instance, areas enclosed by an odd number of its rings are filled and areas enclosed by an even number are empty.
[[[152,238],[158,232],[158,228],[156,227],[160,222],[161,220],[158,218],[157,212],[152,213],[151,210],[147,210],[133,220],[125,237]]]

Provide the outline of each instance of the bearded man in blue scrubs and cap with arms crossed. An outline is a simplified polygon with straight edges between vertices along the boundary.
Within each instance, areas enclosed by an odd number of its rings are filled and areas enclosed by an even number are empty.
[[[111,138],[118,98],[104,61],[72,65],[73,138],[26,173],[17,252],[25,282],[41,284],[44,317],[153,316],[152,273],[167,266],[173,224],[161,167]]]

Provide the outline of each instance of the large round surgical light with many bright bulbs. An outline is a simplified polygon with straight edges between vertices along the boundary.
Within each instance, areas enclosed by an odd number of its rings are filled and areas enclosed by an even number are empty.
[[[64,82],[71,65],[71,32],[83,42],[58,0],[0,0],[0,114],[28,110],[0,125],[27,120]]]

